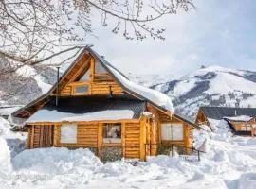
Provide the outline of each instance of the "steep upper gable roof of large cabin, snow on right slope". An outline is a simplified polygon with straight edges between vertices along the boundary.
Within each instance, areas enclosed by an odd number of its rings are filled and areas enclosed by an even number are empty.
[[[135,97],[146,100],[152,105],[154,105],[157,109],[163,112],[167,112],[171,115],[173,112],[173,106],[170,98],[165,95],[161,94],[155,90],[142,87],[132,81],[130,81],[127,77],[125,77],[118,69],[116,69],[113,65],[109,62],[104,60],[99,54],[97,54],[94,50],[90,47],[85,47],[82,50],[82,53],[79,57],[69,66],[69,68],[65,71],[64,75],[60,78],[59,82],[59,90],[61,91],[64,87],[70,82],[70,80],[75,80],[77,77],[73,77],[74,69],[84,70],[86,68],[86,62],[90,61],[90,55],[94,57],[97,63],[100,63],[101,66],[98,66],[98,70],[107,71],[111,77],[115,79],[116,82],[119,83],[119,86],[128,94],[132,94]],[[88,69],[88,67],[87,67]],[[84,73],[86,74],[86,72]],[[81,76],[80,76],[81,77]],[[82,76],[83,77],[83,76]],[[81,77],[81,78],[82,78]],[[22,114],[25,113],[25,118],[29,117],[30,114],[36,112],[38,109],[43,107],[46,102],[49,100],[50,94],[56,93],[57,90],[57,83],[49,90],[47,94],[42,95],[38,99],[34,100],[33,102],[29,103],[24,108],[13,112],[13,116],[23,117]]]

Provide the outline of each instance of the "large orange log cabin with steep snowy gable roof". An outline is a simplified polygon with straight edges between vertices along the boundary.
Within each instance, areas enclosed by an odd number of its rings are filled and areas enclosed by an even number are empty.
[[[194,124],[170,98],[137,85],[89,47],[47,94],[14,112],[27,148],[87,147],[101,159],[156,155],[161,144],[192,147]]]

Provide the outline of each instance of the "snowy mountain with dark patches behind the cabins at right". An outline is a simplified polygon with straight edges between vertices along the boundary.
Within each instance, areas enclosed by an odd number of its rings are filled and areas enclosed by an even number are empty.
[[[175,111],[192,119],[204,105],[256,107],[256,72],[251,71],[203,67],[152,88],[168,94]]]

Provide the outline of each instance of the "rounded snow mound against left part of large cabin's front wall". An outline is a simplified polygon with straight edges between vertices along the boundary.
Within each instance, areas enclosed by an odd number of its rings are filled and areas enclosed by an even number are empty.
[[[89,149],[36,148],[25,150],[12,160],[17,171],[32,171],[45,174],[92,173],[101,161]]]

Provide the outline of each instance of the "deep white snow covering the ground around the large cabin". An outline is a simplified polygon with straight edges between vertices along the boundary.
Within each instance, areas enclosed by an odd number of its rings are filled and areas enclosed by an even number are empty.
[[[25,136],[0,120],[0,188],[256,188],[256,139],[232,137],[225,122],[212,120],[215,132],[195,133],[207,139],[201,162],[180,157],[151,157],[137,166],[125,161],[101,163],[88,149],[9,149],[8,139]],[[201,140],[202,141],[202,140]],[[13,153],[16,151],[16,153]]]

